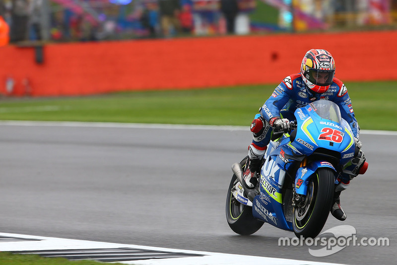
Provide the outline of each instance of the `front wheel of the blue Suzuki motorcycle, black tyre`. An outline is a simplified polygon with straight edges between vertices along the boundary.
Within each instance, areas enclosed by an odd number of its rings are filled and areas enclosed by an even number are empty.
[[[315,238],[323,229],[334,193],[334,172],[329,168],[320,168],[311,177],[303,207],[293,209],[293,228],[299,238]]]

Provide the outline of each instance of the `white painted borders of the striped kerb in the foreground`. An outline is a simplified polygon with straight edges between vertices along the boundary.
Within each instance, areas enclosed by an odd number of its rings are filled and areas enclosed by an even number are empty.
[[[167,258],[140,261],[120,262],[133,265],[241,265],[241,264],[266,264],[266,265],[335,265],[331,263],[296,261],[255,256],[232,255],[212,252],[199,252],[178,249],[155,248],[138,245],[116,244],[85,240],[73,240],[52,237],[39,237],[19,234],[0,233],[3,238],[31,239],[17,242],[1,242],[0,251],[49,251],[49,250],[86,250],[86,249],[117,249],[132,248],[148,251],[174,252],[185,254],[204,255],[202,257]]]

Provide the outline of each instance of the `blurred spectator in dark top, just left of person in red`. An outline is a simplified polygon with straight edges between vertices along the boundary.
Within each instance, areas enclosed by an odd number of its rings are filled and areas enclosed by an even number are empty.
[[[180,32],[179,13],[181,6],[179,0],[159,0],[161,29],[164,37],[170,37],[172,31]]]

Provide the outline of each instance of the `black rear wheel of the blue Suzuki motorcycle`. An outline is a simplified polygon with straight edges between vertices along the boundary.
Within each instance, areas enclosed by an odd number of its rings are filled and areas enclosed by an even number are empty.
[[[243,170],[245,169],[247,158],[248,156],[240,162]],[[252,215],[252,207],[244,205],[234,198],[232,188],[237,182],[238,179],[236,175],[233,174],[227,191],[226,219],[234,232],[243,236],[248,236],[257,232],[263,226],[264,222]]]

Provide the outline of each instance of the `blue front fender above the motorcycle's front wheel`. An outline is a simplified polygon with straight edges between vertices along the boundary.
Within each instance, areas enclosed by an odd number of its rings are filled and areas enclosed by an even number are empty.
[[[309,166],[301,167],[296,172],[296,177],[295,177],[296,193],[306,195],[307,184],[309,183],[309,179],[319,168],[330,168],[336,173],[335,168],[332,166],[330,162],[327,161],[314,161]]]

